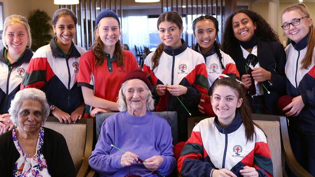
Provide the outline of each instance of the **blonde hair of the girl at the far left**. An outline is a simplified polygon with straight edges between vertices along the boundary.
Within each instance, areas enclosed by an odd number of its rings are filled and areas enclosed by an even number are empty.
[[[3,23],[3,31],[2,31],[2,43],[4,47],[6,49],[9,49],[7,46],[8,44],[7,44],[6,38],[5,38],[5,35],[6,35],[5,33],[7,32],[7,28],[8,26],[14,25],[16,23],[19,23],[25,27],[26,32],[27,32],[27,37],[28,37],[27,46],[31,48],[31,28],[27,19],[21,15],[10,15],[5,18],[4,23]]]

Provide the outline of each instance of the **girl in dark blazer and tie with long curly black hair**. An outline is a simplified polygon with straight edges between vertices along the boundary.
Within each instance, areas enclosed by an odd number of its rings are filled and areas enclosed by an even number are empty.
[[[285,94],[285,52],[266,20],[239,10],[225,24],[222,50],[236,63],[253,113],[278,114],[277,101]]]

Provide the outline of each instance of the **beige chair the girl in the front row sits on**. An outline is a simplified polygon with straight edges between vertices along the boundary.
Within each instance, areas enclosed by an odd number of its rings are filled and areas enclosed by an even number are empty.
[[[188,119],[189,137],[193,127],[202,119],[205,119],[205,117]],[[284,170],[285,162],[297,177],[312,177],[299,165],[293,155],[288,136],[286,117],[252,114],[252,119],[267,135],[267,142],[273,163],[274,177],[287,177]]]

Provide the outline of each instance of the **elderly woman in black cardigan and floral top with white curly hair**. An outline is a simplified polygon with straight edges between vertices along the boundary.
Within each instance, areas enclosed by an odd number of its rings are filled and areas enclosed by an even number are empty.
[[[9,109],[17,126],[0,136],[3,177],[74,177],[75,169],[63,135],[43,127],[49,105],[43,91],[18,91]]]

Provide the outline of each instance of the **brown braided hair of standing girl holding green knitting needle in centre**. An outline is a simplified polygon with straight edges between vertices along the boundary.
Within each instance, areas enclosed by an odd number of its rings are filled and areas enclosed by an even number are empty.
[[[157,29],[158,29],[159,24],[162,23],[163,21],[169,21],[171,23],[176,24],[179,30],[183,29],[182,17],[177,12],[171,11],[171,12],[164,12],[163,14],[161,14],[157,19]],[[158,66],[158,61],[162,55],[163,48],[164,48],[163,43],[157,46],[157,49],[155,50],[153,57],[151,59],[153,62],[152,70],[154,70],[154,68]]]

